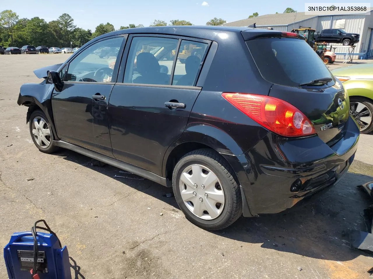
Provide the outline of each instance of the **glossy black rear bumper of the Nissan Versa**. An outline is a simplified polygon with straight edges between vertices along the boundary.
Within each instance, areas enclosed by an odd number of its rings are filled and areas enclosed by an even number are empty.
[[[284,211],[336,185],[354,159],[359,138],[351,117],[347,124],[344,137],[332,147],[317,136],[286,139],[269,132],[248,152],[233,156],[236,162],[228,158],[250,214]]]

